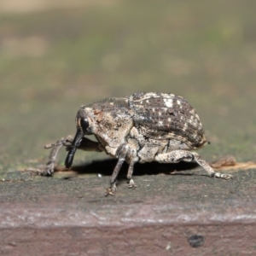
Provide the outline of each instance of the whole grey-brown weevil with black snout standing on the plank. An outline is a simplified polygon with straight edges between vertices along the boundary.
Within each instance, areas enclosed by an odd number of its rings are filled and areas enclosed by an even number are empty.
[[[70,168],[77,149],[105,151],[118,159],[106,195],[116,192],[116,179],[124,161],[129,164],[129,187],[135,163],[157,161],[177,163],[196,161],[210,177],[233,178],[214,172],[212,167],[193,150],[207,143],[203,125],[195,109],[182,96],[155,92],[137,92],[129,97],[107,98],[82,105],[75,119],[75,137],[62,138],[52,148],[43,174],[54,172],[55,158],[62,146],[68,154],[65,166]],[[94,135],[96,142],[84,136]]]

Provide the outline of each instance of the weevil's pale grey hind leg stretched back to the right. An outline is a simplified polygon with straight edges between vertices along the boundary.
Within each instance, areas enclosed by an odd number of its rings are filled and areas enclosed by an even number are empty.
[[[224,174],[220,172],[214,172],[212,167],[207,164],[207,161],[203,160],[201,156],[195,152],[189,152],[185,150],[173,150],[166,154],[157,154],[155,160],[160,163],[175,163],[181,160],[190,162],[196,161],[200,166],[202,166],[209,174],[210,177],[220,177],[224,179],[233,178],[230,174]]]

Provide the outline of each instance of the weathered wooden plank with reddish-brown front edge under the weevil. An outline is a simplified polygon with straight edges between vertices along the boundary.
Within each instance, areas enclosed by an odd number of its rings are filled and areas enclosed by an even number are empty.
[[[122,176],[117,195],[104,197],[114,163],[1,183],[1,255],[256,253],[255,170],[230,170],[236,178],[225,181],[194,166],[137,165],[137,189]]]

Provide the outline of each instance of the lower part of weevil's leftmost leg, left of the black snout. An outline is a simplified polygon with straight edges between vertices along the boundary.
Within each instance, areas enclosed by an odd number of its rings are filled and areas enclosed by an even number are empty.
[[[51,175],[54,172],[55,168],[55,160],[56,157],[60,151],[60,149],[65,146],[68,147],[72,144],[73,142],[73,137],[68,136],[67,138],[61,138],[61,140],[57,141],[55,144],[49,144],[45,145],[44,148],[51,148],[48,161],[46,164],[45,170],[43,170],[40,174],[45,176],[45,175]]]

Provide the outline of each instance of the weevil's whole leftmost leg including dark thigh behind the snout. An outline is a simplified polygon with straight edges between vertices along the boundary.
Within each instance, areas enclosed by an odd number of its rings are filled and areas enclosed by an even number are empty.
[[[55,160],[60,151],[60,149],[64,146],[66,150],[69,151],[71,144],[73,143],[73,137],[68,136],[66,139],[61,138],[61,140],[57,141],[55,144],[45,145],[44,148],[51,148],[49,153],[48,162],[46,164],[45,170],[42,170],[41,175],[51,175],[54,172]],[[85,151],[102,151],[100,144],[97,142],[91,141],[87,137],[83,137],[78,147],[79,149]]]

